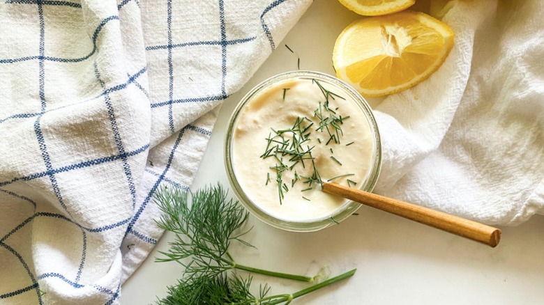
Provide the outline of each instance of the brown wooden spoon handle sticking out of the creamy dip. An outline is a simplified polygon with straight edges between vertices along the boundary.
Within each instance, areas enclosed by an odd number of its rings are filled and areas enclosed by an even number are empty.
[[[323,182],[323,191],[417,221],[421,224],[439,228],[449,233],[467,237],[471,240],[476,240],[476,242],[488,244],[491,247],[496,247],[501,240],[501,230],[498,228],[425,208],[421,205],[406,203],[336,183]]]

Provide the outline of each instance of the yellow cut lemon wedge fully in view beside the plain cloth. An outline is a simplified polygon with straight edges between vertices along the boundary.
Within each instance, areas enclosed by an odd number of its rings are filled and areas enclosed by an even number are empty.
[[[333,65],[362,95],[388,95],[427,79],[452,47],[448,25],[405,10],[349,24],[336,40]]]

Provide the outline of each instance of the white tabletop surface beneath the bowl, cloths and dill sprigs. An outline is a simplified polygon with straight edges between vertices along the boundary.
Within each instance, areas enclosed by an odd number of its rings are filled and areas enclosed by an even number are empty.
[[[252,86],[272,75],[301,69],[333,74],[331,54],[340,31],[358,18],[338,1],[317,0],[285,40],[241,90],[220,110],[208,149],[192,189],[221,182],[228,186],[223,164],[227,120]],[[368,99],[376,104],[379,99]],[[544,304],[544,218],[503,230],[501,243],[490,248],[386,212],[362,207],[359,215],[315,233],[289,233],[250,218],[245,240],[257,249],[232,246],[244,265],[313,276],[328,267],[331,276],[357,268],[348,279],[292,304]],[[121,304],[152,304],[181,276],[176,263],[155,263],[166,250],[166,233],[121,290]],[[264,278],[255,276],[255,287]],[[272,292],[294,292],[308,284],[266,279]]]

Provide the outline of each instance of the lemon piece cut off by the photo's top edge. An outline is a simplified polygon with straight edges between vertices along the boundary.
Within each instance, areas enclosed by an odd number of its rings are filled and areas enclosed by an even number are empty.
[[[363,16],[397,13],[416,3],[416,0],[338,0],[343,6]]]

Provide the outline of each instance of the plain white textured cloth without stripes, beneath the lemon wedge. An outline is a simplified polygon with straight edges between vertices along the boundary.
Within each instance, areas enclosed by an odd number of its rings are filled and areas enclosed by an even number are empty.
[[[376,191],[488,224],[544,214],[544,2],[431,12],[455,45],[428,80],[377,107]]]

